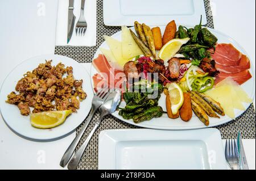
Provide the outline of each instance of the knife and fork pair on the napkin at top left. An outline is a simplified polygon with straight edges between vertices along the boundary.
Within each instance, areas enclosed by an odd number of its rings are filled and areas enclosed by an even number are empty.
[[[81,10],[80,10],[80,18],[76,23],[76,36],[84,36],[87,28],[87,23],[84,17],[84,5],[85,0],[81,0]],[[71,40],[73,29],[75,26],[76,16],[73,13],[74,10],[74,0],[69,0],[68,6],[68,36],[67,43]]]

